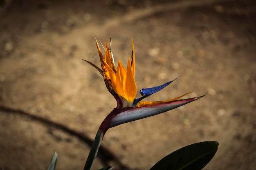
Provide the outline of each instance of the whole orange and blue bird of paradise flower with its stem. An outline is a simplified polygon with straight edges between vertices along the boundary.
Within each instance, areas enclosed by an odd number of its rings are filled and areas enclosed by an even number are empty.
[[[105,56],[103,57],[101,49],[96,40],[96,45],[99,53],[99,58],[101,62],[101,68],[97,67],[92,62],[88,62],[94,68],[96,68],[99,73],[103,76],[104,82],[108,91],[115,97],[117,101],[117,107],[110,112],[107,117],[101,123],[97,135],[94,139],[94,144],[89,153],[88,159],[85,163],[84,170],[90,170],[92,164],[97,155],[99,146],[105,135],[106,131],[109,128],[124,124],[130,121],[135,121],[138,119],[143,119],[159,113],[164,113],[168,110],[180,107],[184,104],[188,104],[197,99],[204,97],[204,95],[199,97],[193,97],[188,99],[180,99],[181,97],[191,93],[186,93],[174,99],[169,99],[166,101],[159,102],[144,102],[142,99],[162,90],[164,87],[168,86],[173,82],[173,79],[170,82],[162,84],[160,86],[152,88],[143,88],[140,90],[142,97],[135,99],[137,94],[137,84],[135,82],[135,50],[132,39],[132,55],[128,58],[128,64],[125,68],[120,60],[118,60],[118,66],[115,67],[115,61],[113,54],[111,52],[112,41],[110,39],[110,46],[106,41]],[[177,78],[176,78],[177,79]]]

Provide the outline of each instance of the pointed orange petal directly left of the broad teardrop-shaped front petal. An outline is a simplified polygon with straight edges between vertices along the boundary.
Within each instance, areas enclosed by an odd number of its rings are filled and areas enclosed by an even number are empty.
[[[121,64],[120,60],[118,60],[117,75],[116,75],[116,77],[117,77],[116,87],[117,87],[117,93],[122,97],[125,97],[125,95],[124,95],[124,85],[123,85],[125,73],[126,73],[126,69]]]

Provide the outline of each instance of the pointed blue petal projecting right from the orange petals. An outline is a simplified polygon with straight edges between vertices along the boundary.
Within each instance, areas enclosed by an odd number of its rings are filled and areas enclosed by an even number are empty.
[[[179,77],[177,77],[179,78]],[[177,79],[175,78],[175,79]],[[173,82],[175,79],[173,79],[172,81],[170,82],[167,82],[165,84],[162,84],[160,86],[156,86],[156,87],[151,87],[151,88],[142,88],[139,93],[142,95],[142,97],[140,97],[139,99],[134,99],[134,102],[133,102],[133,106],[136,106],[139,101],[141,101],[142,99],[145,99],[146,97],[162,90],[163,88],[165,88],[166,86],[168,86],[169,84],[171,84],[171,82]]]

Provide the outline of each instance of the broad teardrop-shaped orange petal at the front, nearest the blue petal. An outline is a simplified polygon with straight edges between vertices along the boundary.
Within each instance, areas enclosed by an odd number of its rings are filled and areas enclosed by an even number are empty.
[[[128,102],[133,102],[137,94],[137,85],[132,74],[132,65],[130,57],[127,64],[126,74],[124,75],[124,94]]]

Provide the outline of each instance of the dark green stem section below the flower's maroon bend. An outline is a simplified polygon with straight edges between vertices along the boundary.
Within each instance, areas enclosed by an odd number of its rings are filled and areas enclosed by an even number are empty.
[[[99,129],[96,134],[96,137],[93,141],[92,148],[91,148],[88,158],[85,162],[85,166],[84,166],[83,170],[91,170],[92,169],[92,165],[97,156],[99,146],[101,145],[102,138],[103,138],[103,133],[102,133],[102,130]]]

